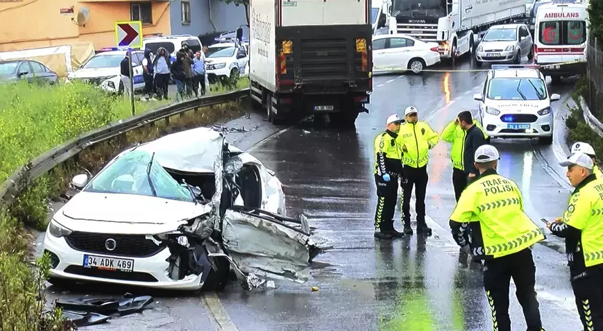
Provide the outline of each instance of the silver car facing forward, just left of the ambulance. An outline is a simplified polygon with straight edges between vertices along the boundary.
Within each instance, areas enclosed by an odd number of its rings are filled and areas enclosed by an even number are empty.
[[[534,58],[534,40],[525,24],[491,26],[475,50],[475,64],[484,62],[521,63],[521,58]]]

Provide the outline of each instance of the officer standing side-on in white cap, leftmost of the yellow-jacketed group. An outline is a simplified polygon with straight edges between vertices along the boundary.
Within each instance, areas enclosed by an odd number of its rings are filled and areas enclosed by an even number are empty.
[[[398,180],[402,175],[402,151],[396,138],[403,122],[398,114],[391,115],[386,121],[387,129],[375,137],[374,173],[378,201],[373,236],[377,239],[404,236],[393,228],[393,214],[398,201]]]

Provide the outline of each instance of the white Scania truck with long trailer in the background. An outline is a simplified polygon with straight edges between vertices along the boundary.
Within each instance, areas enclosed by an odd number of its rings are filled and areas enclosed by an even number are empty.
[[[389,33],[438,42],[441,58],[454,59],[473,53],[490,26],[524,16],[525,0],[393,0]]]

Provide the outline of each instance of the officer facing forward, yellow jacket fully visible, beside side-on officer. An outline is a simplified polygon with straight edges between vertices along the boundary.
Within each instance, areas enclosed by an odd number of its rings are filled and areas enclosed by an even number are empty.
[[[406,123],[400,127],[398,144],[402,146],[405,183],[402,185],[402,219],[405,235],[412,235],[410,227],[410,196],[415,186],[416,230],[419,234],[432,235],[425,223],[425,191],[427,190],[427,161],[430,149],[438,143],[436,133],[425,121],[418,121],[418,110],[410,106],[405,109]]]

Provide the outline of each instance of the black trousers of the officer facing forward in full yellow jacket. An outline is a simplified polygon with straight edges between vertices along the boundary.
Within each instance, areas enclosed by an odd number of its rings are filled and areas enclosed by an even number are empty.
[[[413,168],[404,166],[405,178],[407,182],[402,185],[404,195],[402,196],[402,220],[405,226],[410,226],[410,197],[412,187],[414,186],[414,195],[416,199],[416,221],[417,227],[425,226],[425,193],[427,192],[427,166]]]

